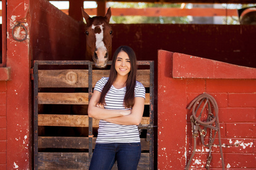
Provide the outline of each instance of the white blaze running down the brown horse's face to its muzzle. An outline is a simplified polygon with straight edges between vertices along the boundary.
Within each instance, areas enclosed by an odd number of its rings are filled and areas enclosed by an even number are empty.
[[[103,42],[104,36],[104,24],[101,25],[92,25],[96,37],[96,48],[94,51],[93,61],[95,62],[96,67],[103,68],[108,62],[108,50]]]

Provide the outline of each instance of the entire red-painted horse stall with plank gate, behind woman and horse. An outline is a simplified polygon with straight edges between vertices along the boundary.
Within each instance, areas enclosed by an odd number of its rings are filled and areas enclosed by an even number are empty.
[[[109,66],[95,69],[85,58],[83,1],[70,2],[68,16],[47,0],[2,1],[0,169],[89,165],[98,122],[73,113],[86,110],[93,84]],[[255,25],[110,25],[113,51],[134,49],[146,87],[139,169],[185,169],[193,148],[192,169],[205,167],[210,150],[210,168],[221,169],[221,160],[225,169],[256,168]],[[188,107],[200,94],[218,106],[220,127],[210,149],[199,138],[193,142]],[[202,134],[210,139],[209,129]]]

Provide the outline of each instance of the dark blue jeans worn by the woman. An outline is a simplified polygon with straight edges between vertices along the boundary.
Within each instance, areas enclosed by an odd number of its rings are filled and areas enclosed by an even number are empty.
[[[96,143],[89,170],[136,170],[141,158],[141,143]]]

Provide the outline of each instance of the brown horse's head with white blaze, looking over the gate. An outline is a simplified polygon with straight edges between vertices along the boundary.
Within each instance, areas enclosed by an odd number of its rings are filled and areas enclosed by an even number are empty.
[[[92,57],[96,67],[104,68],[112,53],[112,28],[109,25],[110,7],[105,17],[90,18],[84,10],[82,10],[82,16],[86,21],[86,56]]]

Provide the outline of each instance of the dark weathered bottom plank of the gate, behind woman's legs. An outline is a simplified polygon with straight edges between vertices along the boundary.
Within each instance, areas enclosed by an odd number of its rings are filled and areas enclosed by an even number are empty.
[[[149,169],[149,161],[149,153],[142,153],[137,169]],[[39,152],[38,169],[89,169],[88,152]]]

